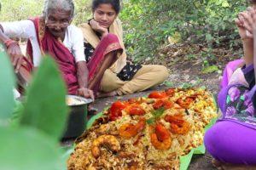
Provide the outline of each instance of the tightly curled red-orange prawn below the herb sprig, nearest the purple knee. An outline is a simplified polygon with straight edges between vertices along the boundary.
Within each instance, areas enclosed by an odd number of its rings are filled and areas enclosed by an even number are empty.
[[[172,146],[171,134],[164,125],[158,124],[150,135],[151,143],[156,150],[169,150]]]

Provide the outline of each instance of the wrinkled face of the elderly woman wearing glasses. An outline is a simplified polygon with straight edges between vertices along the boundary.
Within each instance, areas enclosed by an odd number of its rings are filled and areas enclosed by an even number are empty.
[[[65,37],[67,26],[71,22],[70,11],[49,9],[46,15],[45,25],[54,37]]]

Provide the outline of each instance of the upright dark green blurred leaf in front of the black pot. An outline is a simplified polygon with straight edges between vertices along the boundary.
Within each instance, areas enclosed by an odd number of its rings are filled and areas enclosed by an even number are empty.
[[[61,75],[50,57],[44,57],[28,88],[21,124],[60,139],[67,122],[66,90]]]

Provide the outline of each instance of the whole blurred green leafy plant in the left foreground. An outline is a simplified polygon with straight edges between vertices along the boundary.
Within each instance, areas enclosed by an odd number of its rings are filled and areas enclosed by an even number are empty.
[[[15,105],[15,76],[4,52],[0,66],[1,169],[65,169],[58,141],[67,121],[66,90],[55,62],[44,57],[22,105]]]

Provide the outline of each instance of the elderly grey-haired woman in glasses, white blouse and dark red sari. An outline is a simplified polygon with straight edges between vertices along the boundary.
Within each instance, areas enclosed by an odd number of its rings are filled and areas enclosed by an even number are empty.
[[[109,34],[102,38],[96,57],[86,64],[83,34],[79,28],[70,25],[73,14],[73,0],[46,0],[43,16],[1,23],[0,41],[6,46],[16,72],[32,71],[38,67],[42,54],[50,54],[59,66],[68,94],[94,99],[104,71],[122,49],[118,38]],[[26,58],[22,56],[19,45],[9,37],[28,39]],[[110,46],[114,44],[114,48],[109,48],[106,42]]]

